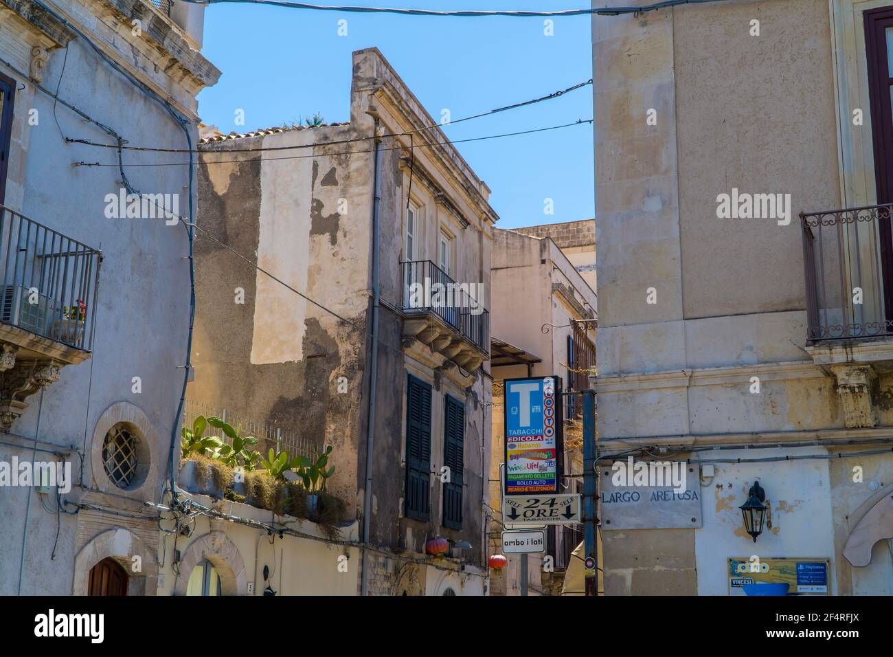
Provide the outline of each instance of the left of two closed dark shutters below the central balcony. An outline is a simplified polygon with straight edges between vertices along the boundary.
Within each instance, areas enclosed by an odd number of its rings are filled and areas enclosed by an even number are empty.
[[[406,518],[429,518],[430,472],[431,386],[409,375],[406,386]]]

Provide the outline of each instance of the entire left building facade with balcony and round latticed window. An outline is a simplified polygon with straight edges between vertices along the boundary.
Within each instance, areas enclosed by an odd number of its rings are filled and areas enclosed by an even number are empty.
[[[135,153],[121,167],[106,147],[194,147],[196,94],[220,75],[200,53],[203,12],[0,3],[0,594],[110,593],[91,586],[100,571],[117,592],[158,588],[145,504],[165,498],[179,432],[190,263],[177,217],[194,190],[188,167],[131,167],[158,161]],[[15,485],[16,459],[71,476]]]

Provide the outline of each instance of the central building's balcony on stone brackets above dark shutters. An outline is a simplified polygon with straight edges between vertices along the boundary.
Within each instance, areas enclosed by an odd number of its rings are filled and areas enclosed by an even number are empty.
[[[489,358],[490,314],[474,293],[430,260],[401,263],[404,337],[438,351],[468,372]]]

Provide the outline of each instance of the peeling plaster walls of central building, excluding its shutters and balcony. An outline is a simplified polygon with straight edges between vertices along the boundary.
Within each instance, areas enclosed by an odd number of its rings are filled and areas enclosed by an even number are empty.
[[[433,125],[418,100],[375,49],[354,54],[351,121],[340,126],[286,131],[263,138],[238,139],[238,147],[320,144],[368,138],[374,122],[380,131]],[[363,145],[369,141],[359,142]],[[239,262],[212,240],[196,246],[199,307],[196,315],[196,382],[189,397],[232,409],[247,417],[296,430],[330,443],[330,462],[337,467],[330,490],[346,500],[350,513],[362,515],[365,492],[368,402],[372,388],[367,350],[378,350],[375,445],[372,453],[371,542],[419,556],[434,535],[467,540],[472,550],[463,560],[484,563],[484,476],[489,465],[488,385],[476,370],[469,377],[428,347],[405,343],[403,319],[390,307],[403,305],[405,202],[409,149],[384,139],[380,152],[380,308],[375,344],[368,344],[371,303],[371,153],[338,153],[343,145],[298,151],[301,159],[260,162],[260,154],[234,154],[228,141],[211,142],[199,172],[203,228],[310,299],[354,323],[340,322],[301,299],[280,283]],[[368,150],[367,147],[357,148]],[[438,259],[438,232],[454,237],[451,273],[456,282],[483,283],[480,299],[489,307],[489,190],[450,150],[432,155],[414,151],[413,198],[423,213],[424,250],[419,259]],[[238,159],[238,164],[212,164]],[[422,175],[424,173],[424,175]],[[444,201],[444,195],[447,202]],[[456,217],[463,215],[463,228]],[[234,303],[236,288],[245,304]],[[250,366],[246,364],[250,363]],[[235,375],[234,375],[235,373]],[[243,374],[244,373],[244,374]],[[404,516],[405,397],[408,373],[432,383],[431,468],[444,460],[445,395],[465,404],[463,527],[447,529],[442,521],[442,484],[431,476],[430,521]],[[338,377],[347,392],[338,393]],[[364,519],[364,518],[361,518]],[[370,561],[371,592],[394,593],[399,573],[391,560]],[[402,564],[402,562],[399,562]],[[407,571],[408,572],[408,571]],[[481,571],[485,574],[485,571]],[[481,579],[480,574],[472,579]],[[420,582],[424,579],[421,574]],[[422,584],[422,587],[424,585]],[[482,586],[482,584],[481,584]],[[478,590],[465,585],[463,590]],[[457,593],[459,593],[457,591]]]

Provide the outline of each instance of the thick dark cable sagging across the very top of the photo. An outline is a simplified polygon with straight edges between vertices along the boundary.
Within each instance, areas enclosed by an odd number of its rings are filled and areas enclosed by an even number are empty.
[[[192,4],[270,4],[277,7],[286,7],[288,9],[311,9],[321,12],[344,12],[344,13],[396,13],[404,16],[455,16],[461,18],[486,18],[488,16],[506,16],[509,18],[531,18],[531,17],[558,17],[563,16],[618,16],[623,13],[645,13],[654,12],[658,9],[675,7],[679,4],[702,4],[719,2],[720,0],[664,0],[664,2],[655,4],[645,4],[640,7],[603,7],[601,9],[565,9],[556,12],[538,12],[526,10],[455,10],[455,11],[437,11],[433,9],[396,9],[393,7],[358,7],[352,5],[328,5],[328,4],[306,4],[288,2],[288,0],[183,0]]]

